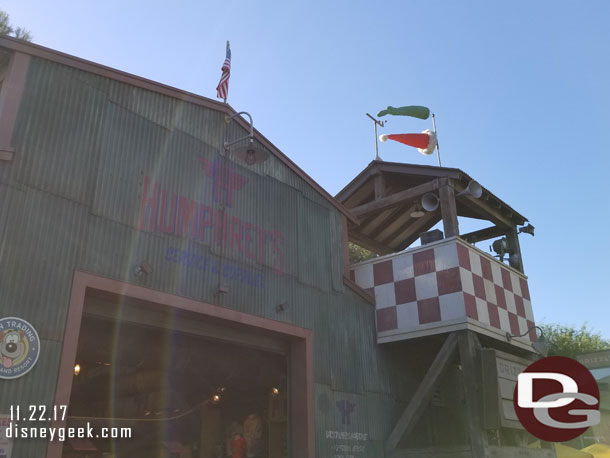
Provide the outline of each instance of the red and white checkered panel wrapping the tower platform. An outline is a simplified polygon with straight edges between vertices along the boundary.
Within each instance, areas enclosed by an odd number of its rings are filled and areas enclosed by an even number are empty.
[[[466,316],[513,335],[534,326],[527,280],[456,240],[372,260],[351,274],[375,296],[378,333]]]

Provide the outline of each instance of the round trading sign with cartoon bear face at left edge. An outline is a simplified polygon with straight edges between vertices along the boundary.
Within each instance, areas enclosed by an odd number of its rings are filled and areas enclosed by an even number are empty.
[[[27,374],[40,355],[40,338],[27,321],[0,318],[0,379],[13,379]]]

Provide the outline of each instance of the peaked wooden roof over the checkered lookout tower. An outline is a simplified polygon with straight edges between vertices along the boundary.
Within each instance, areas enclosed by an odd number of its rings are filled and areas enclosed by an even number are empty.
[[[444,220],[443,207],[455,207],[457,216],[492,223],[488,228],[460,235],[470,243],[513,232],[517,225],[525,224],[526,217],[486,188],[479,199],[468,195],[458,197],[470,181],[472,178],[460,169],[372,161],[335,198],[360,220],[360,224],[350,223],[350,240],[378,254],[409,247],[422,232]],[[451,200],[455,204],[443,205],[444,193],[439,191],[447,186],[453,189],[455,198]],[[422,196],[429,192],[440,195],[439,208],[420,218],[411,217]],[[459,235],[445,232],[446,236]]]

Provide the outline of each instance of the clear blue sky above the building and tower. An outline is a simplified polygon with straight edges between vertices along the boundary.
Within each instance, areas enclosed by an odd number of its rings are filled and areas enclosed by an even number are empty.
[[[375,155],[387,105],[436,113],[443,165],[536,227],[538,321],[610,338],[610,2],[3,0],[34,42],[229,103],[331,194]],[[391,118],[380,133],[429,121]],[[435,165],[394,142],[383,159]],[[464,223],[461,229],[470,228]],[[484,247],[483,247],[484,248]]]

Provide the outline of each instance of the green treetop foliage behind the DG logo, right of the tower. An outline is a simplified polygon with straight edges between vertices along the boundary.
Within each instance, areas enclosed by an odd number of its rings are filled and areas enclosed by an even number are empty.
[[[549,345],[549,356],[573,358],[579,353],[610,348],[610,340],[604,339],[583,324],[580,329],[557,323],[540,325]]]

